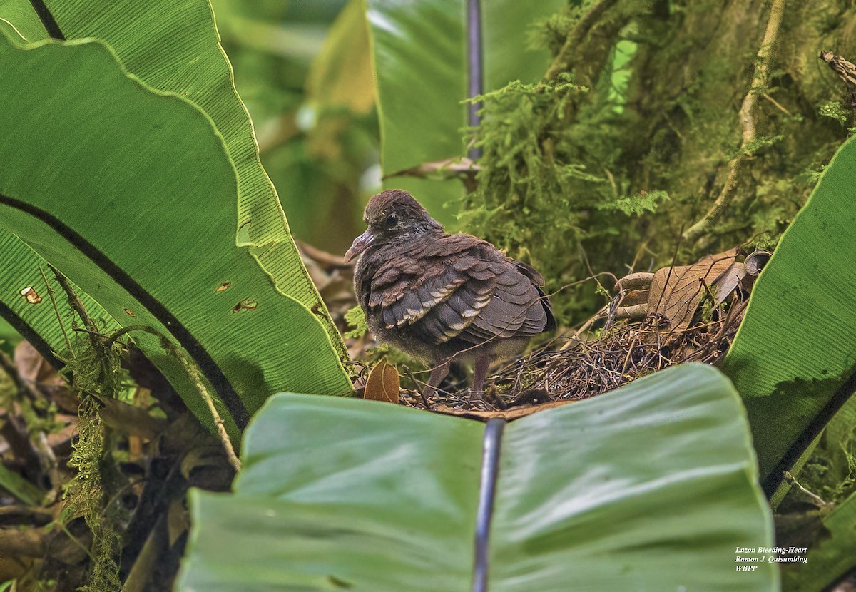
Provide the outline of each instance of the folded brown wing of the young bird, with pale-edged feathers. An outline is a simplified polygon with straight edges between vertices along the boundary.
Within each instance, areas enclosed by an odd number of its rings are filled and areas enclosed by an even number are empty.
[[[493,249],[467,235],[414,249],[377,270],[368,305],[387,329],[408,327],[434,344],[541,333],[547,314],[531,268]]]

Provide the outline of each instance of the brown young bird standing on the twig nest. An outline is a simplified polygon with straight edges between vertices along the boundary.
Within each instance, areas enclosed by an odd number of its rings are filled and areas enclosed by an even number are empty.
[[[363,220],[344,256],[359,258],[354,293],[378,340],[432,365],[429,397],[461,359],[475,362],[470,400],[479,400],[491,359],[556,329],[538,271],[487,240],[446,233],[410,193],[377,193]]]

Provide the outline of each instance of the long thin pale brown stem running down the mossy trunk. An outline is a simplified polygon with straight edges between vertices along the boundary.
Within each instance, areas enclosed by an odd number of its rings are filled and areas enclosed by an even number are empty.
[[[701,220],[693,224],[690,228],[687,228],[687,231],[684,233],[684,240],[695,242],[702,235],[707,234],[710,227],[728,209],[728,204],[731,203],[732,198],[734,198],[737,192],[737,186],[740,182],[740,169],[752,157],[751,145],[758,137],[755,132],[755,110],[758,104],[758,97],[764,95],[767,83],[770,80],[770,56],[772,56],[773,50],[776,47],[776,38],[779,34],[779,27],[782,25],[784,11],[785,0],[772,0],[770,3],[770,18],[767,21],[767,28],[764,31],[761,48],[758,50],[758,59],[755,62],[755,73],[752,76],[752,84],[743,98],[743,103],[740,104],[738,116],[743,133],[740,151],[728,163],[728,177],[716,201]]]

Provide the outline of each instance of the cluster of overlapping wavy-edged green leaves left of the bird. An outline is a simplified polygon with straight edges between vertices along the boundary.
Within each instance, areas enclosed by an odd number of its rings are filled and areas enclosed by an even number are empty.
[[[152,38],[145,27],[126,21],[116,27],[116,15],[93,4],[49,4],[66,37],[98,37],[104,30],[110,45],[0,40],[7,65],[0,80],[3,110],[10,115],[3,133],[16,139],[3,156],[9,166],[0,179],[0,222],[17,237],[5,235],[3,257],[15,261],[15,269],[2,299],[15,322],[42,336],[42,349],[60,349],[47,301],[32,305],[18,293],[25,286],[41,290],[44,256],[90,301],[104,305],[96,316],[112,326],[142,324],[172,335],[199,365],[227,423],[242,427],[268,394],[295,380],[305,381],[293,385],[296,390],[324,384],[330,394],[347,391],[336,359],[343,355],[341,338],[253,157],[251,127],[207,4],[149,5],[146,18],[154,22],[175,23],[176,11],[195,15],[187,43],[157,60],[146,59]],[[182,64],[193,55],[202,59],[189,77]],[[128,63],[137,78],[123,68]],[[40,73],[52,69],[62,74],[51,92],[43,92]],[[55,166],[39,169],[45,159]],[[28,175],[11,176],[15,170]],[[140,243],[147,237],[160,240]],[[290,337],[280,340],[261,329],[270,325]],[[211,424],[197,389],[180,364],[163,356],[158,339],[134,339],[200,420]],[[255,347],[270,355],[253,359]],[[318,356],[317,364],[307,352]],[[304,364],[319,373],[289,370]]]

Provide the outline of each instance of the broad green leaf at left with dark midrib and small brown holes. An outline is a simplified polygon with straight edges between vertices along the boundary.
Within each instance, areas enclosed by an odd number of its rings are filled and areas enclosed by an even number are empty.
[[[203,111],[129,78],[98,42],[3,38],[0,62],[0,226],[116,323],[172,334],[239,426],[282,388],[350,388],[321,323],[236,248],[235,169]],[[137,340],[207,418],[158,340]]]

